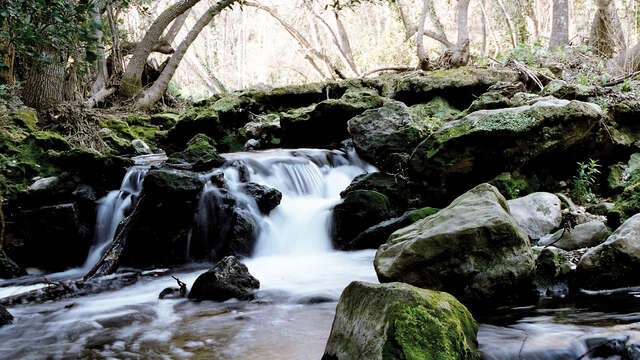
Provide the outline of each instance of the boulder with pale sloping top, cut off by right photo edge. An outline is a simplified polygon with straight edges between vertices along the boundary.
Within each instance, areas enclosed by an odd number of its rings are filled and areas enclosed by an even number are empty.
[[[640,284],[640,214],[625,221],[604,243],[590,249],[578,263],[587,288],[611,289]]]

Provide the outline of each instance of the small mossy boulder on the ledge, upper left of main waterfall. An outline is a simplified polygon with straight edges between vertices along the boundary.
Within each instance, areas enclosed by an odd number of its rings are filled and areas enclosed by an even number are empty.
[[[191,138],[183,151],[172,154],[167,160],[170,166],[194,171],[208,171],[225,162],[216,150],[215,141],[204,134]]]

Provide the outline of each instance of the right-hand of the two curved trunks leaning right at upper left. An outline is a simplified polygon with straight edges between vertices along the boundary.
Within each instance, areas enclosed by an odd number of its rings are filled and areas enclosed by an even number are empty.
[[[169,81],[173,78],[173,75],[180,65],[182,58],[187,53],[189,46],[196,40],[200,32],[204,29],[207,24],[213,20],[213,18],[218,15],[222,10],[227,7],[233,5],[238,0],[220,0],[215,5],[210,7],[201,17],[198,19],[193,28],[189,31],[187,36],[182,40],[176,52],[171,56],[167,66],[165,66],[164,70],[160,74],[158,80],[156,80],[153,85],[144,91],[143,96],[137,101],[137,108],[148,108],[155,104],[162,95],[167,91],[167,87],[169,86]]]

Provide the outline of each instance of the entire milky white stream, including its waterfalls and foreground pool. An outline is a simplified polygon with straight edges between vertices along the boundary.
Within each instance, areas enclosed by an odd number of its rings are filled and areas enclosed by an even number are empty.
[[[13,325],[0,328],[2,359],[319,359],[331,329],[336,302],[354,280],[377,281],[374,250],[341,252],[331,246],[331,211],[353,178],[375,168],[354,152],[271,150],[226,154],[224,181],[238,206],[256,222],[256,248],[244,259],[260,280],[256,300],[193,303],[159,300],[175,286],[166,269],[147,272],[120,290],[44,304],[11,307]],[[90,268],[113,239],[131,198],[139,194],[147,165],[127,173],[122,187],[99,203]],[[211,178],[203,174],[203,178]],[[268,216],[242,191],[247,181],[274,187],[282,201]],[[219,190],[207,183],[194,228],[207,225]],[[214,204],[215,205],[215,204]],[[190,249],[185,249],[189,253]],[[191,286],[210,264],[172,270]],[[0,297],[31,287],[0,289]],[[554,304],[506,309],[479,318],[479,348],[485,359],[577,359],[585,339],[596,335],[640,336],[636,294],[614,308]],[[635,299],[635,301],[634,301]],[[583,359],[590,359],[586,356]]]

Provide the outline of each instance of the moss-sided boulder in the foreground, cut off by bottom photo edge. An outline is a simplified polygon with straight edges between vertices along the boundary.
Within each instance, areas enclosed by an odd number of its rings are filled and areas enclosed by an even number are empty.
[[[476,360],[478,324],[453,296],[402,283],[352,282],[323,360]]]

